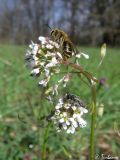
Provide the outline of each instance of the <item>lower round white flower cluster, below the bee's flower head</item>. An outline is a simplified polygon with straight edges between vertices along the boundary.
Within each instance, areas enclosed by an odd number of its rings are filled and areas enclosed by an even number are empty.
[[[57,131],[66,130],[67,133],[74,133],[78,127],[85,127],[87,122],[82,118],[88,110],[84,103],[73,94],[66,94],[60,98],[55,106],[54,115],[51,116]]]

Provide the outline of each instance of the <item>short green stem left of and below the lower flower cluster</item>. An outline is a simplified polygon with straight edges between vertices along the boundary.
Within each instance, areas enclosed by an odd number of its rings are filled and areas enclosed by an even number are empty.
[[[46,142],[48,140],[48,136],[49,136],[49,129],[50,129],[50,123],[47,125],[46,129],[45,129],[45,133],[44,133],[44,137],[43,137],[43,146],[42,146],[42,160],[46,160]]]

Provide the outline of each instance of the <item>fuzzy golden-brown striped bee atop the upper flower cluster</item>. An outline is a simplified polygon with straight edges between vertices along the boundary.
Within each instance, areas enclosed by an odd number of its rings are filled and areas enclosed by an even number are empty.
[[[64,60],[71,58],[77,53],[72,41],[67,33],[60,29],[53,29],[50,32],[51,38],[60,45],[62,56]]]

